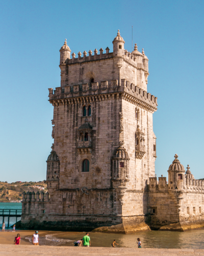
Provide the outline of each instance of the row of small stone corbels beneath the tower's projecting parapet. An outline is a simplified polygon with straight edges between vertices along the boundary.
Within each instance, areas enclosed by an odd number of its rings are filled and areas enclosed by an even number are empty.
[[[150,95],[150,94],[149,94]],[[153,95],[151,95],[153,96]],[[153,96],[154,97],[154,96]],[[151,101],[153,104],[156,103],[153,101],[153,97]],[[131,96],[128,93],[110,93],[110,94],[99,94],[99,95],[91,95],[91,96],[82,96],[82,97],[74,97],[74,98],[63,98],[63,99],[52,99],[49,100],[53,106],[60,106],[60,105],[72,105],[72,104],[86,104],[86,103],[95,103],[97,101],[104,101],[104,100],[114,100],[114,99],[124,99],[127,102],[130,102],[139,108],[146,110],[150,113],[154,113],[157,111],[157,107],[151,106],[148,103]]]

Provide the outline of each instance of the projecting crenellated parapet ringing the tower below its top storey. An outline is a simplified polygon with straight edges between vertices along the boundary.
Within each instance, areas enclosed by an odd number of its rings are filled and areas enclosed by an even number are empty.
[[[86,100],[89,98],[94,101],[96,100],[107,100],[107,99],[119,99],[124,98],[130,102],[139,102],[142,101],[146,105],[149,105],[154,108],[154,111],[157,110],[157,97],[147,93],[138,86],[135,86],[134,83],[127,81],[126,79],[121,79],[121,84],[118,83],[118,80],[111,81],[101,81],[91,83],[89,87],[88,83],[85,84],[74,84],[71,86],[57,87],[56,90],[49,88],[49,101],[56,105],[74,103],[75,100],[79,97]],[[67,103],[66,103],[67,102]]]

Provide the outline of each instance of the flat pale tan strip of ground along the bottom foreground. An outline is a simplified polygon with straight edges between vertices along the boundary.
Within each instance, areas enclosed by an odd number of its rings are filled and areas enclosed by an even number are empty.
[[[67,246],[33,246],[0,245],[0,255],[98,255],[98,256],[148,256],[148,255],[203,255],[204,249],[152,249],[152,248],[108,248],[108,247],[67,247]]]

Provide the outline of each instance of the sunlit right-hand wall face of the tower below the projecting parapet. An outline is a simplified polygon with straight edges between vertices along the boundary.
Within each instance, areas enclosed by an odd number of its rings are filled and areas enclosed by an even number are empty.
[[[139,108],[140,118],[136,119],[134,104],[122,101],[122,113],[124,115],[124,131],[120,134],[120,140],[124,140],[124,147],[130,156],[130,189],[147,189],[147,180],[155,176],[155,157],[153,155],[154,139],[152,113]],[[145,151],[142,159],[135,158],[135,133],[139,125],[145,134]]]

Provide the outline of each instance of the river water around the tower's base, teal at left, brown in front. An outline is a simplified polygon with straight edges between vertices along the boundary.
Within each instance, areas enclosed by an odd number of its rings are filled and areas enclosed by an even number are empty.
[[[21,209],[21,203],[0,203],[0,209]],[[10,219],[10,227],[15,223],[15,218]],[[20,220],[20,218],[18,218]],[[7,218],[5,218],[7,225]],[[2,217],[0,217],[0,225]],[[8,229],[8,227],[7,227]],[[8,230],[9,231],[9,230]],[[84,230],[86,232],[86,230]],[[62,232],[39,230],[39,242],[41,245],[73,246],[75,240],[82,239],[85,232]],[[91,246],[111,247],[113,240],[117,247],[137,247],[137,238],[142,241],[143,248],[204,248],[204,229],[190,230],[186,232],[170,231],[140,231],[131,234],[113,233],[89,233]],[[25,238],[28,242],[32,236]]]

